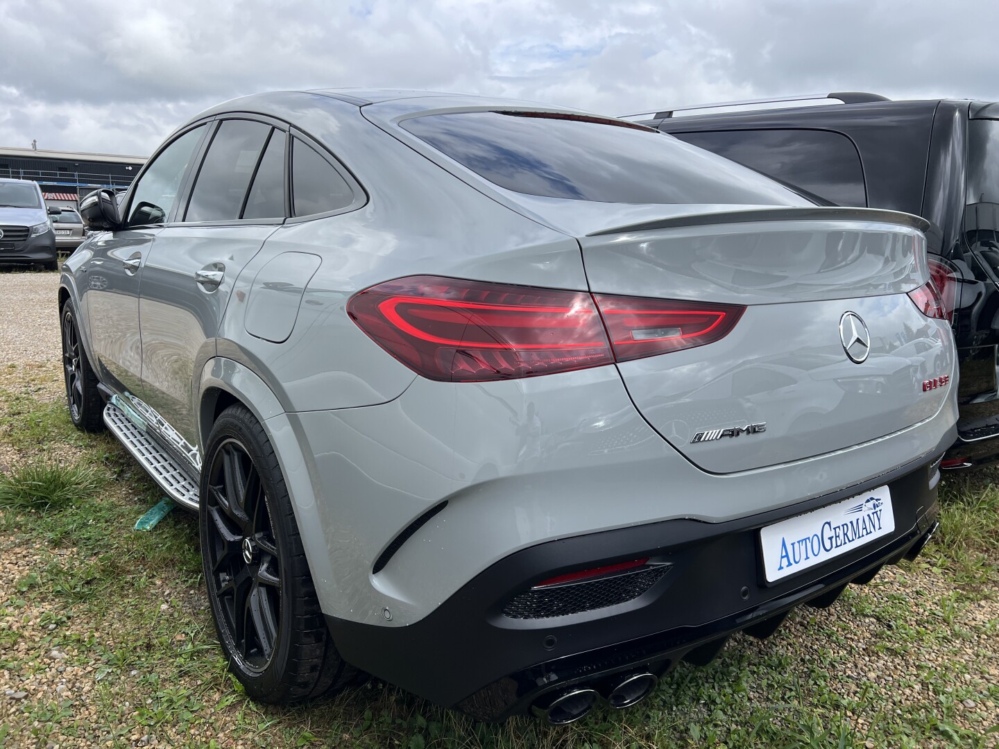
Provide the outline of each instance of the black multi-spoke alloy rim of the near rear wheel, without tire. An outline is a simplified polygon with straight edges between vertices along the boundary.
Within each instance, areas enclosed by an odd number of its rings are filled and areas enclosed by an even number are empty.
[[[281,561],[260,473],[237,439],[216,450],[204,500],[204,553],[234,654],[247,670],[263,672],[281,629]]]

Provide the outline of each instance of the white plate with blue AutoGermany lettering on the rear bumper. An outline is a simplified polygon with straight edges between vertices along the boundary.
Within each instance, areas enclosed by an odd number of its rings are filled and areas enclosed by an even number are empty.
[[[859,548],[895,529],[887,486],[760,528],[767,582]]]

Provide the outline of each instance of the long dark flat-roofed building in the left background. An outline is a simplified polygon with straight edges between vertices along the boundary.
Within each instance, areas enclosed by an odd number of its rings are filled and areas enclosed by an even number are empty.
[[[145,163],[144,156],[0,148],[0,177],[37,182],[46,204],[68,208],[98,188],[124,190]]]

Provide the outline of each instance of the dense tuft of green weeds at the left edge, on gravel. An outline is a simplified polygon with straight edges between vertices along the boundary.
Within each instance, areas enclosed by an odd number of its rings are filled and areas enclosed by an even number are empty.
[[[63,509],[93,496],[103,484],[104,477],[91,465],[36,461],[0,474],[0,507]]]

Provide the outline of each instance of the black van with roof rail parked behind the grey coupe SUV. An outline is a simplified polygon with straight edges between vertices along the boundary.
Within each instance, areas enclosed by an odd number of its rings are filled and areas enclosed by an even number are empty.
[[[961,370],[958,439],[941,467],[999,459],[999,103],[890,101],[850,92],[708,104],[626,119],[762,172],[826,205],[884,208],[927,219],[930,274],[953,324]]]

